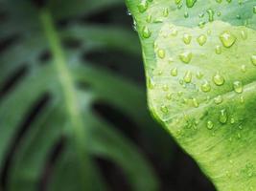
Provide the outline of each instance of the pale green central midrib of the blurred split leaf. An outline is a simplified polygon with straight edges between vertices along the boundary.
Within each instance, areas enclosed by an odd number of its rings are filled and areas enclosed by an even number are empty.
[[[90,159],[88,149],[86,147],[88,145],[86,141],[88,140],[86,138],[86,129],[84,128],[81,117],[81,108],[77,101],[74,79],[68,69],[51,13],[48,10],[41,11],[41,20],[45,35],[49,41],[50,50],[54,55],[54,65],[63,92],[66,113],[70,118],[70,130],[72,133],[71,139],[74,143],[78,159],[80,161],[79,170],[81,171],[82,190],[91,190],[92,181],[89,179]]]

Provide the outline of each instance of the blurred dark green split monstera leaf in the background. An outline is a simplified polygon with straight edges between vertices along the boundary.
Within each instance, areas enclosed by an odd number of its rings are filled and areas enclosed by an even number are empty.
[[[37,8],[27,0],[0,2],[0,170],[8,190],[37,190],[42,177],[49,190],[105,190],[92,157],[121,166],[133,190],[157,189],[149,162],[93,110],[103,101],[138,126],[150,126],[143,91],[81,60],[92,50],[139,53],[136,36],[114,26],[72,22],[121,3],[52,1]],[[79,49],[72,49],[78,42]],[[56,145],[60,154],[49,174],[45,168]]]

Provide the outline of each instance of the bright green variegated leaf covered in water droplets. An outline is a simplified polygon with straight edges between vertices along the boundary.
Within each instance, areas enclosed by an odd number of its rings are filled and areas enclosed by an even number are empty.
[[[219,190],[256,190],[256,1],[127,4],[153,116]]]

